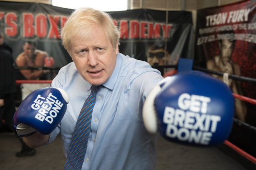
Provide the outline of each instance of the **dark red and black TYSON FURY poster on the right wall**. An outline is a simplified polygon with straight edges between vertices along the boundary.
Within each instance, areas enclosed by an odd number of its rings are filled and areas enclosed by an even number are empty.
[[[256,0],[197,11],[195,65],[256,79],[255,49]],[[224,81],[224,77],[216,77]],[[255,81],[229,79],[226,84],[233,93],[256,99]],[[245,124],[234,123],[229,140],[256,157],[256,106],[236,102],[236,110],[239,109],[240,115],[236,112],[234,116]]]

